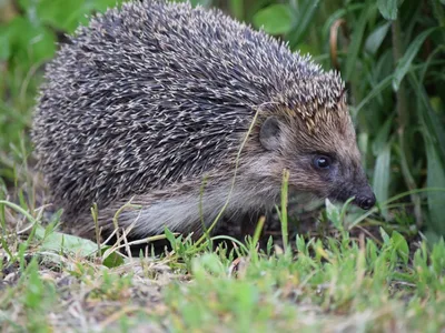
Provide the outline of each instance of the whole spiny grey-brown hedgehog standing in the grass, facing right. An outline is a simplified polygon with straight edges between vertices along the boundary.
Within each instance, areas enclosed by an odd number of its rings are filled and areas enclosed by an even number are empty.
[[[340,75],[189,3],[127,2],[78,28],[47,65],[32,139],[63,225],[86,238],[92,204],[103,234],[238,223],[274,208],[284,170],[296,193],[376,201]]]

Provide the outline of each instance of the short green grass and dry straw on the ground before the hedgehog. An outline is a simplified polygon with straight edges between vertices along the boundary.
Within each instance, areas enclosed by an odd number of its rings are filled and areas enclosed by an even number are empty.
[[[445,329],[445,243],[403,236],[399,224],[385,231],[377,209],[343,215],[327,202],[289,222],[280,212],[254,238],[226,236],[228,248],[167,231],[169,249],[135,255],[125,240],[121,252],[98,252],[95,242],[60,233],[57,214],[46,224],[41,210],[0,203],[4,332]]]

